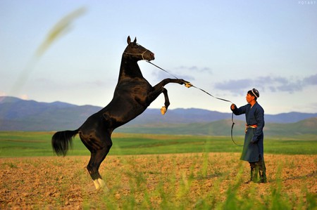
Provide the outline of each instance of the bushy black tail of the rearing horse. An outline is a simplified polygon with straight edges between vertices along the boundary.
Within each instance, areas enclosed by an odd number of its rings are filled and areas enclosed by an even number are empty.
[[[66,156],[68,148],[73,148],[73,138],[78,133],[75,131],[58,131],[51,138],[51,147],[58,156]]]

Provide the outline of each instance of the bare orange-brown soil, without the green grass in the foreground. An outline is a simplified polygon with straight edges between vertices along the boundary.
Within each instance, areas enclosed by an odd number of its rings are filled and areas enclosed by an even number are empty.
[[[170,185],[181,188],[180,182],[187,183],[189,177],[192,192],[189,199],[204,197],[216,189],[221,201],[237,178],[249,179],[249,166],[239,157],[236,153],[109,156],[99,171],[110,189],[106,193],[117,202],[133,193],[135,200],[142,200],[142,191],[153,192],[164,182],[168,186],[163,189],[171,192],[175,188],[170,190]],[[290,195],[290,199],[303,199],[303,192],[316,195],[317,155],[265,158],[268,183],[242,184],[240,192],[256,188],[259,191],[256,193],[265,197],[281,183],[282,192]],[[101,192],[94,190],[87,173],[88,161],[89,157],[72,156],[0,158],[0,209],[85,209],[85,206],[94,209],[102,197]],[[159,202],[162,198],[150,199]]]

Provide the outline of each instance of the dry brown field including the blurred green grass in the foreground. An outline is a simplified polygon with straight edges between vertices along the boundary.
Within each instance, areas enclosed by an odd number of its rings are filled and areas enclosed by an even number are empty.
[[[239,156],[109,156],[100,171],[110,192],[94,190],[89,157],[2,158],[0,209],[316,208],[317,155],[266,155],[266,184],[244,184]]]

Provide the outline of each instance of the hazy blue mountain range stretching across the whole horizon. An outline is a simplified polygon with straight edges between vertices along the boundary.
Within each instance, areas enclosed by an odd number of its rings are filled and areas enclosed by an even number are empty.
[[[0,131],[60,131],[77,129],[91,114],[102,107],[72,105],[63,102],[40,103],[0,96]],[[266,134],[316,133],[317,113],[290,112],[266,114]],[[244,115],[234,116],[235,133],[243,132]],[[174,133],[193,135],[228,135],[231,113],[201,109],[147,109],[137,118],[121,126],[117,132]],[[300,130],[299,130],[300,128]]]

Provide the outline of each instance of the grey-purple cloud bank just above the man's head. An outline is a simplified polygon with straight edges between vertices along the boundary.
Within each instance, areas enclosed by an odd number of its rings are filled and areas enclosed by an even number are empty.
[[[305,77],[304,79],[294,79],[286,77],[257,77],[252,79],[231,79],[229,81],[218,82],[215,88],[223,91],[234,91],[235,93],[244,94],[247,88],[268,88],[272,92],[294,93],[302,91],[306,86],[317,85],[317,74]]]

